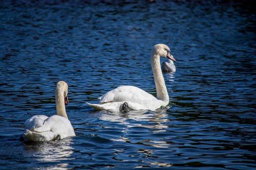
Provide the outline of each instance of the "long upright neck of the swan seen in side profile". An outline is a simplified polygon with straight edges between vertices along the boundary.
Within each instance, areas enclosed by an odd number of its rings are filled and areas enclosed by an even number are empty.
[[[157,88],[157,99],[169,102],[169,95],[163,78],[163,73],[160,65],[160,56],[155,50],[151,53],[151,66],[154,74],[154,81]]]

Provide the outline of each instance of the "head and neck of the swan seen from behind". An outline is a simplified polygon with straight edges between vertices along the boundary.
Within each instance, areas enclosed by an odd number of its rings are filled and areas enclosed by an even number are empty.
[[[67,118],[65,105],[68,105],[67,99],[68,85],[64,81],[59,81],[56,86],[55,100],[56,100],[56,111],[57,115],[64,116]]]

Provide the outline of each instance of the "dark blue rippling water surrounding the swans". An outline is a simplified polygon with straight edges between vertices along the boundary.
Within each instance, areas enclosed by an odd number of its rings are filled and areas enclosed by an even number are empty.
[[[1,2],[0,169],[255,169],[255,18],[247,1]],[[156,96],[157,43],[177,59],[169,109],[85,105],[119,85]],[[77,136],[20,142],[26,119],[55,114],[59,80]]]

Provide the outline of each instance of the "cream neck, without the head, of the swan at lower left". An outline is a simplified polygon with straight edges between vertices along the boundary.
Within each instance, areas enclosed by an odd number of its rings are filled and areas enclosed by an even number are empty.
[[[56,88],[55,101],[56,101],[57,115],[67,118],[65,102],[64,102],[64,89],[63,88]]]

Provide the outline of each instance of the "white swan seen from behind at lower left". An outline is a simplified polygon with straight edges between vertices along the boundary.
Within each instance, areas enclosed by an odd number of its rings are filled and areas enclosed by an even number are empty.
[[[65,109],[65,104],[68,104],[67,88],[66,82],[57,83],[55,93],[57,115],[50,117],[36,115],[26,120],[22,135],[25,141],[50,141],[76,136]]]

